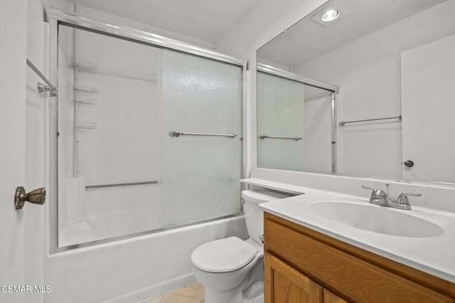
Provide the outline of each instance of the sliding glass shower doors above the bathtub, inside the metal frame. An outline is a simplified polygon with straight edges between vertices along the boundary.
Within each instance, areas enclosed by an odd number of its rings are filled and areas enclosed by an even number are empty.
[[[58,30],[58,246],[240,212],[242,66]]]

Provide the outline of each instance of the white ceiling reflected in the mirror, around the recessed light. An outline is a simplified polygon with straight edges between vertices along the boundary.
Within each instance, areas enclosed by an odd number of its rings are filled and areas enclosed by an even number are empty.
[[[444,1],[336,0],[350,10],[346,16],[331,25],[321,26],[311,20],[312,13],[259,48],[257,57],[265,63],[293,68]]]

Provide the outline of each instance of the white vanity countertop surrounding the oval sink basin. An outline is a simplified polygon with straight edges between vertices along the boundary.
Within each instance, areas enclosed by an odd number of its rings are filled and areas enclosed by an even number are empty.
[[[294,190],[296,188],[293,188]],[[363,248],[378,255],[414,267],[422,272],[455,282],[455,214],[413,206],[405,211],[368,203],[369,197],[350,196],[343,193],[321,191],[299,186],[304,192],[299,196],[261,203],[259,206],[268,213],[290,220],[299,225],[319,231],[343,242]],[[368,194],[367,194],[368,195]],[[444,233],[433,238],[409,238],[385,235],[353,228],[343,223],[326,220],[308,210],[317,201],[347,201],[367,203],[370,206],[386,208],[388,211],[406,212],[412,216],[429,220],[444,228]]]

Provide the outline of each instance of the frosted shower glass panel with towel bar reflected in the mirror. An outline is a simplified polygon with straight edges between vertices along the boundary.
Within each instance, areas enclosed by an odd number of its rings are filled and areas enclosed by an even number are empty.
[[[267,73],[257,73],[257,134],[303,137],[303,83]],[[305,138],[299,141],[258,138],[258,166],[303,170],[304,141]]]

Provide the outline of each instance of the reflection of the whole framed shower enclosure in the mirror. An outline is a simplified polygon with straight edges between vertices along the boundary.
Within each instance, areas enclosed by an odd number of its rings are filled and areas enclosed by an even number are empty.
[[[334,85],[258,65],[258,166],[335,171],[336,90]]]

